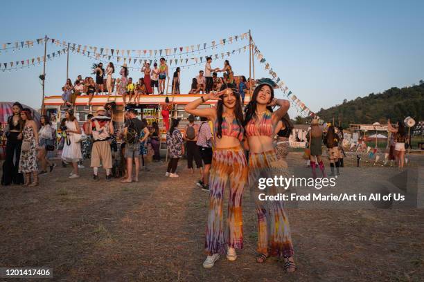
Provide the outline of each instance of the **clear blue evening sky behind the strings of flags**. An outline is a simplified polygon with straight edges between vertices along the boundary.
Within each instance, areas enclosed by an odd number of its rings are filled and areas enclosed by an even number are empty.
[[[3,1],[0,44],[47,35],[115,49],[161,49],[219,41],[251,30],[260,52],[312,111],[424,79],[424,1]],[[226,44],[226,53],[248,44]],[[60,50],[47,45],[47,54]],[[35,44],[7,53],[0,63],[41,57]],[[193,56],[204,56],[200,53]],[[179,57],[176,57],[179,59]],[[185,58],[185,57],[183,57]],[[172,58],[173,59],[173,58]],[[229,59],[235,75],[249,75],[249,55]],[[223,66],[223,59],[212,66]],[[69,54],[69,77],[90,75],[94,59]],[[115,66],[122,64],[116,63]],[[184,64],[185,62],[183,62]],[[255,58],[255,77],[270,77]],[[133,64],[131,64],[133,66]],[[139,66],[139,65],[137,65]],[[1,70],[4,69],[2,66]],[[183,68],[182,93],[204,65]],[[0,101],[39,108],[42,65],[0,71]],[[46,95],[60,95],[67,57],[46,63]],[[172,75],[172,73],[171,73]],[[118,74],[115,74],[117,77]],[[130,77],[141,77],[130,69]],[[282,91],[277,97],[284,97]],[[290,109],[290,115],[298,115]]]

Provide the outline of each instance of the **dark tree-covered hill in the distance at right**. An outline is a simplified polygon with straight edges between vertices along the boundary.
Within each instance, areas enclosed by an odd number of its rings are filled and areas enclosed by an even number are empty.
[[[321,109],[318,113],[326,122],[335,120],[346,128],[348,124],[386,123],[404,120],[408,115],[416,122],[424,120],[424,81],[419,85],[393,87],[383,93],[371,93],[366,97],[343,101],[343,104]]]

